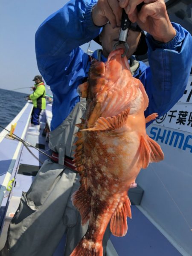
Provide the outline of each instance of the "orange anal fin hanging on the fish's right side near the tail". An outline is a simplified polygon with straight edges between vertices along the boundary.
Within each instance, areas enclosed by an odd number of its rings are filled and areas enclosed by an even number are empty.
[[[127,195],[123,196],[112,215],[110,229],[114,236],[125,236],[128,230],[127,216],[131,218],[131,203]]]

